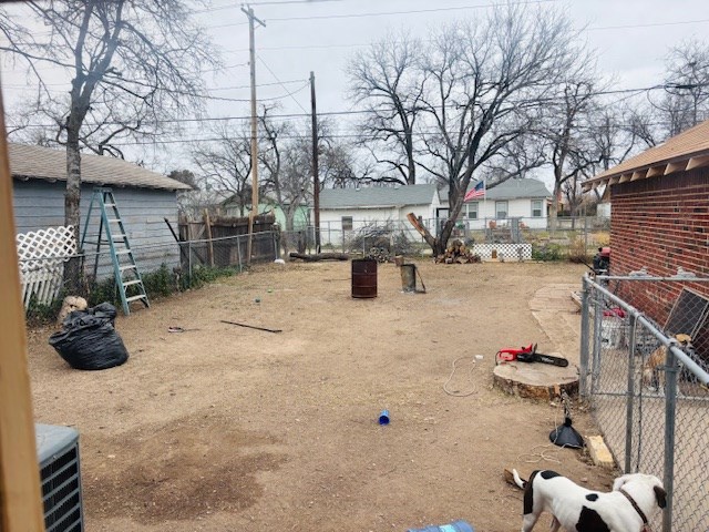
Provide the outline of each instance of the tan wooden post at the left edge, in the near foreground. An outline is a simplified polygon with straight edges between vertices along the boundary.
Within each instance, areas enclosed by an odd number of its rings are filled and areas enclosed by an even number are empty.
[[[44,518],[14,245],[12,175],[0,94],[0,531],[42,532]]]

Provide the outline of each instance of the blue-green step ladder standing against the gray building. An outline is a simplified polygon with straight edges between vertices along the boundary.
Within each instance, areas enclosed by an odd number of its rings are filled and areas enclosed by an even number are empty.
[[[137,264],[135,264],[135,257],[131,250],[129,236],[125,232],[123,221],[119,213],[119,206],[115,203],[113,191],[111,188],[95,187],[93,190],[91,203],[89,204],[89,212],[86,213],[84,233],[81,237],[81,248],[85,249],[84,241],[89,234],[89,223],[91,222],[91,214],[94,206],[101,211],[99,234],[96,237],[96,262],[93,267],[94,279],[96,278],[99,270],[101,245],[109,244],[109,248],[111,249],[111,260],[113,262],[115,285],[121,295],[121,303],[123,304],[123,314],[126,316],[131,314],[130,304],[133,301],[141,301],[146,307],[150,307],[151,305],[147,300],[147,294],[145,293],[145,285],[143,285],[141,272],[137,269]]]

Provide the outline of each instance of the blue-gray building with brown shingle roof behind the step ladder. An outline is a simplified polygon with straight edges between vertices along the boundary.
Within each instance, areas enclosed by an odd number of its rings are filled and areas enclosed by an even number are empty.
[[[66,153],[42,146],[10,144],[14,223],[18,234],[64,225]],[[81,232],[95,186],[111,187],[133,254],[143,273],[179,264],[179,250],[165,224],[177,231],[177,192],[192,190],[178,181],[126,161],[99,155],[81,157]],[[96,249],[100,212],[93,209],[84,252]],[[106,245],[102,245],[102,250]],[[102,257],[99,275],[110,274]],[[88,265],[86,265],[88,266]]]

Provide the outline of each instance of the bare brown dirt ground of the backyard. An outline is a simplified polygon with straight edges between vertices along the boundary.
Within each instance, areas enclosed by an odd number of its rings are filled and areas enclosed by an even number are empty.
[[[35,419],[81,434],[86,530],[504,532],[522,515],[505,467],[609,489],[613,472],[549,444],[559,405],[492,386],[502,347],[577,360],[584,267],[419,268],[427,294],[382,264],[378,297],[354,299],[350,263],[257,266],[119,317],[131,358],[104,371],[30,330]]]

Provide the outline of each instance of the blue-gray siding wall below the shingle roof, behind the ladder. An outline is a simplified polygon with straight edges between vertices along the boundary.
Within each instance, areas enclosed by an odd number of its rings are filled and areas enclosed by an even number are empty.
[[[38,180],[13,180],[14,223],[17,233],[28,233],[47,227],[64,225],[65,183],[49,183]],[[93,185],[82,185],[81,225],[86,221]],[[113,188],[131,248],[142,273],[179,265],[179,250],[164,218],[177,231],[177,200],[174,191],[154,188]],[[84,244],[86,254],[95,253],[101,212],[92,211],[89,233]],[[102,244],[102,252],[107,252]],[[93,270],[93,259],[88,259],[86,270]],[[102,256],[99,276],[111,275],[111,259]]]

